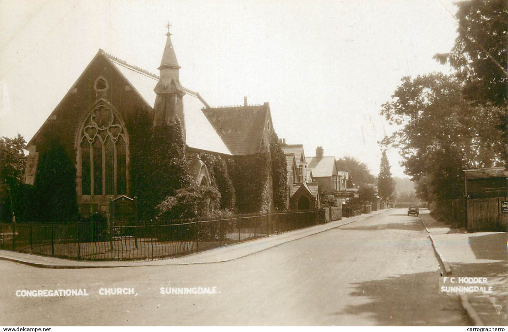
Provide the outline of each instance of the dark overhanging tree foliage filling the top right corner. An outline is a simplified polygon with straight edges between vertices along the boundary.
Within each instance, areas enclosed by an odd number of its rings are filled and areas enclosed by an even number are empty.
[[[456,3],[459,23],[455,46],[450,53],[436,54],[441,63],[449,62],[466,99],[484,105],[506,106],[508,98],[508,2],[469,0]]]

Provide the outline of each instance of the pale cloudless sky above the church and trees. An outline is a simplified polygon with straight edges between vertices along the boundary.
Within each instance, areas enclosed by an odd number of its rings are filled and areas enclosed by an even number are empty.
[[[99,48],[158,74],[169,21],[183,86],[212,107],[268,102],[279,138],[377,175],[396,129],[381,105],[404,76],[451,73],[432,56],[453,47],[455,13],[449,0],[0,0],[0,136],[29,141]]]

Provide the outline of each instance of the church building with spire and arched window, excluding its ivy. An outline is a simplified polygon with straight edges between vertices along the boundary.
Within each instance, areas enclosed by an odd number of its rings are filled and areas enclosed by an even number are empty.
[[[148,112],[153,127],[178,117],[187,166],[198,185],[210,185],[200,153],[222,158],[249,155],[267,144],[273,130],[268,103],[261,106],[211,108],[197,92],[182,86],[180,66],[168,31],[158,67],[149,73],[102,49],[93,57],[35,136],[24,182],[34,184],[39,156],[57,138],[75,162],[80,211],[108,211],[110,198],[131,196],[129,163],[133,142],[128,128],[136,112]],[[264,142],[264,143],[263,143]]]

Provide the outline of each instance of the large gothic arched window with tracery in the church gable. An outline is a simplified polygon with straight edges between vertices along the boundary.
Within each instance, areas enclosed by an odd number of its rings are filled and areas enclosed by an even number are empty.
[[[127,133],[107,103],[92,108],[79,134],[82,195],[127,193]],[[80,172],[79,172],[80,171]]]

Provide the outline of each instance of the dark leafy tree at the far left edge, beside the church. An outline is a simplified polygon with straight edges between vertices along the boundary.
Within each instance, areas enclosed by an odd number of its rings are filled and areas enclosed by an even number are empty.
[[[0,138],[0,222],[11,222],[13,214],[20,209],[18,201],[26,163],[25,145],[19,134],[13,139]]]

